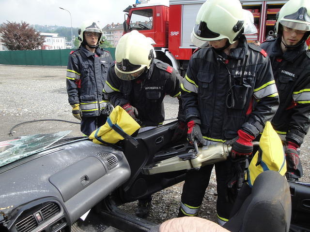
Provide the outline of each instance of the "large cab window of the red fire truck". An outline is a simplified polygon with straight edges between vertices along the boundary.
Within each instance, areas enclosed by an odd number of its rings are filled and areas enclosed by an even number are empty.
[[[153,28],[153,10],[133,11],[130,18],[130,30],[149,30]]]

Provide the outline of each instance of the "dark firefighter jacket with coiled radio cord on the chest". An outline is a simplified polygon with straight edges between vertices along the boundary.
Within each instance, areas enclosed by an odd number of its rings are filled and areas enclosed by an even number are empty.
[[[189,61],[181,85],[186,120],[201,119],[202,135],[209,141],[233,139],[239,129],[256,137],[279,106],[269,58],[259,47],[246,43],[244,36],[226,58],[218,53],[202,48]]]

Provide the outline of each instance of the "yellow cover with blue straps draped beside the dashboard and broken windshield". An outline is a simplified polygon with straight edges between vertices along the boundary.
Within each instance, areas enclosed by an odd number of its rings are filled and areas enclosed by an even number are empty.
[[[106,123],[93,131],[89,136],[95,144],[115,144],[124,137],[115,131],[112,127],[116,126],[128,135],[132,135],[140,129],[140,125],[121,107],[116,106],[109,115]]]

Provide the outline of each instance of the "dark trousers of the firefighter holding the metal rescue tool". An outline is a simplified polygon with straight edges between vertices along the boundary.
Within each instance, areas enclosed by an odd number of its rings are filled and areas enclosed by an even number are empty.
[[[205,190],[209,185],[213,166],[204,166],[198,171],[192,170],[186,174],[179,216],[196,216],[198,214]],[[217,217],[222,221],[228,221],[233,207],[233,201],[229,201],[232,198],[228,197],[227,188],[228,182],[231,180],[231,169],[232,162],[230,160],[215,164],[217,176]]]

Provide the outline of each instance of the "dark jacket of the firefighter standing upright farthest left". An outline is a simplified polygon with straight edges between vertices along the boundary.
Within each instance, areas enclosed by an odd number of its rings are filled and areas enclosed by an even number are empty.
[[[70,105],[79,103],[83,117],[99,116],[107,100],[102,92],[109,65],[113,59],[108,51],[96,48],[95,54],[81,46],[69,55],[67,93]]]

